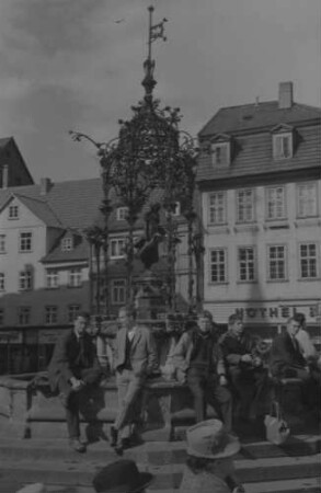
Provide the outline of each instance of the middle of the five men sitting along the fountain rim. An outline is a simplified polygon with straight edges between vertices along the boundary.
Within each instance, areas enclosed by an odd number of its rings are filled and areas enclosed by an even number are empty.
[[[231,395],[225,387],[226,369],[209,311],[199,313],[197,325],[182,334],[173,351],[172,362],[181,371],[181,380],[187,380],[194,397],[196,422],[206,419],[208,402],[217,411],[226,428],[231,431]]]

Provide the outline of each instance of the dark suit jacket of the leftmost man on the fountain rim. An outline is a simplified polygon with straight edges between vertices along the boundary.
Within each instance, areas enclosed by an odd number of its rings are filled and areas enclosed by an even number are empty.
[[[73,330],[66,332],[57,342],[48,366],[48,378],[53,391],[57,390],[58,380],[61,376],[69,380],[74,377],[76,369],[100,368],[92,337],[84,333],[82,342],[81,349]]]

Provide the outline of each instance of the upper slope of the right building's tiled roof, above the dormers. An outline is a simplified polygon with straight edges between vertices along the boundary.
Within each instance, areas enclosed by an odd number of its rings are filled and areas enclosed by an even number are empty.
[[[229,134],[256,128],[273,127],[279,123],[295,124],[321,118],[321,108],[294,103],[279,110],[277,101],[242,104],[220,108],[199,131],[199,138],[215,134]]]

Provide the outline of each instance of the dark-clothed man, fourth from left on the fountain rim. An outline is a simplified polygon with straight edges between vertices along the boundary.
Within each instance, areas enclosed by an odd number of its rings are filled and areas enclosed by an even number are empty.
[[[256,355],[256,344],[257,340],[244,332],[242,318],[231,314],[220,346],[232,393],[239,404],[237,414],[245,421],[256,417],[256,404],[267,390],[268,371]]]

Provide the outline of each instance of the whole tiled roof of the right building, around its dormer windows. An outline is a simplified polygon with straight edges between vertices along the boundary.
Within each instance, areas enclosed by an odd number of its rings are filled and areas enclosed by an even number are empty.
[[[244,119],[244,115],[253,115]],[[278,124],[293,126],[294,154],[289,159],[273,157],[272,129]],[[243,131],[245,130],[245,131]],[[197,182],[263,176],[273,173],[320,169],[321,110],[294,104],[290,110],[278,110],[277,103],[261,103],[220,110],[200,131],[200,138],[216,134],[232,136],[231,162],[226,167],[211,163],[209,153],[198,159]],[[320,169],[321,171],[321,169]]]

